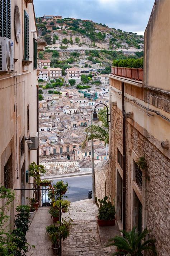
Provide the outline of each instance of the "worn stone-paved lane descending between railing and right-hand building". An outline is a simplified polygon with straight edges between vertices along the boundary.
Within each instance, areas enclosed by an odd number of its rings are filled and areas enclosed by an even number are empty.
[[[106,247],[102,243],[102,231],[100,229],[100,237],[95,217],[97,212],[98,208],[91,199],[71,203],[70,217],[74,220],[74,225],[70,236],[62,243],[62,256],[104,256],[115,252],[114,246]],[[63,214],[63,218],[66,216],[69,216],[68,213]],[[119,234],[116,226],[114,230]],[[110,237],[114,237],[114,234]]]

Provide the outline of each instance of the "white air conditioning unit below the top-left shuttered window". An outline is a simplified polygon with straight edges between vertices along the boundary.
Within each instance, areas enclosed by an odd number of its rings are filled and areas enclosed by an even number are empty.
[[[14,42],[6,37],[0,37],[0,72],[14,70]]]

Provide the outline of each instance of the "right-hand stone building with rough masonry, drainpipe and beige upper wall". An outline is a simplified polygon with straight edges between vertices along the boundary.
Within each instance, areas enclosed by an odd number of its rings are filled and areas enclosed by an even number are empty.
[[[140,232],[147,227],[151,230],[150,236],[156,239],[159,256],[168,256],[170,252],[169,9],[168,0],[155,1],[144,36],[143,82],[108,75],[110,159],[95,170],[96,196],[111,194],[115,199],[119,227],[122,228],[124,217],[127,231],[134,225]]]

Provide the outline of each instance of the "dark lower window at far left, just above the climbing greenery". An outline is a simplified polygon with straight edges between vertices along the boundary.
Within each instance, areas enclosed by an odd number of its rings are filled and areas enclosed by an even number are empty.
[[[4,166],[4,187],[13,188],[13,172],[12,172],[12,154]]]

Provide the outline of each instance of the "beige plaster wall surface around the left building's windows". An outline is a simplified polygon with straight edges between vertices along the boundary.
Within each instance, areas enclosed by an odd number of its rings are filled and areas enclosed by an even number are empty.
[[[21,20],[21,35],[19,43],[14,35],[14,7],[18,5]],[[24,9],[29,14],[29,55],[32,63],[28,66],[22,65],[24,58],[24,27],[23,14]],[[28,152],[27,143],[25,145],[25,154],[20,157],[20,141],[23,136],[29,137],[30,132],[37,131],[37,71],[33,69],[33,35],[31,30],[36,30],[34,22],[33,5],[28,4],[26,8],[25,1],[11,1],[11,39],[14,41],[14,58],[18,59],[14,65],[13,73],[0,74],[0,183],[4,185],[4,165],[10,154],[13,155],[13,188],[21,187],[21,168],[25,160],[25,171],[30,162],[37,159],[37,151]],[[25,71],[23,71],[23,68]],[[27,106],[29,104],[29,131],[27,130]],[[17,162],[17,160],[18,162]],[[18,169],[18,177],[16,179]],[[26,185],[28,187],[28,183]],[[16,191],[16,204],[21,204],[20,191]],[[27,193],[26,193],[27,194]],[[12,209],[12,208],[11,208]],[[14,211],[11,212],[11,218],[14,218]]]

